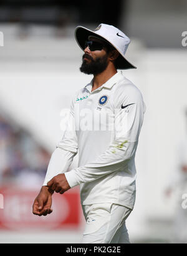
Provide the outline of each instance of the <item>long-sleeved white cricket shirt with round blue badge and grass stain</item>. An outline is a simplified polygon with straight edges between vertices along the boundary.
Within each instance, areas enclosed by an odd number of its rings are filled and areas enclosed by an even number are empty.
[[[91,90],[92,81],[72,100],[44,185],[65,172],[70,187],[80,185],[82,204],[113,202],[133,209],[135,153],[145,112],[141,92],[122,71]],[[67,172],[78,150],[78,167]]]

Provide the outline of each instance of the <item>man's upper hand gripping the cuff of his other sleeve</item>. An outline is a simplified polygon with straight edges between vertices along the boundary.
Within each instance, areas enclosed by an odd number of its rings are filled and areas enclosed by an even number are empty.
[[[49,180],[49,182],[47,183],[47,186],[51,190],[54,190],[55,192],[60,194],[63,194],[65,191],[70,189],[69,183],[65,178],[65,174],[56,175],[51,180]]]

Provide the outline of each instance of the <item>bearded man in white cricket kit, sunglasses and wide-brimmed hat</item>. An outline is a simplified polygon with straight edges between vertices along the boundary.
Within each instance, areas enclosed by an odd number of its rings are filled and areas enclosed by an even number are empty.
[[[107,24],[95,31],[78,26],[75,39],[84,51],[80,71],[93,79],[72,100],[33,213],[50,214],[54,191],[80,185],[83,243],[129,243],[125,220],[135,203],[135,152],[145,112],[138,88],[117,72],[135,68],[125,59],[130,39]],[[67,172],[77,150],[79,167]]]

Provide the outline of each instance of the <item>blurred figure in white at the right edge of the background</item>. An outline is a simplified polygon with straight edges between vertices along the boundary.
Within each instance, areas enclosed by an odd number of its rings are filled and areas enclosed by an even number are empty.
[[[176,165],[168,177],[165,194],[175,195],[175,215],[173,218],[173,235],[170,242],[187,243],[187,109],[185,111],[185,137],[181,139],[176,149]]]

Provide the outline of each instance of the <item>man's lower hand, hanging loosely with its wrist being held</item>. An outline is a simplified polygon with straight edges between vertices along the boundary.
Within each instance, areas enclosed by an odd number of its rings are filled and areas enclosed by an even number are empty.
[[[52,194],[54,192],[49,189],[47,186],[43,186],[39,195],[37,195],[34,200],[34,204],[32,205],[32,213],[35,215],[44,215],[52,213],[52,209],[50,208],[52,205]]]

